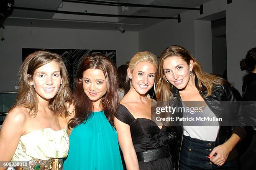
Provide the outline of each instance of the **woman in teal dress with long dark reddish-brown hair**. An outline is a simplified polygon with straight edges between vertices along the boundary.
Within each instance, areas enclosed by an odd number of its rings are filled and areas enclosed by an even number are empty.
[[[113,63],[104,55],[84,57],[77,71],[74,113],[68,119],[70,148],[64,170],[123,170],[113,125],[118,100]]]

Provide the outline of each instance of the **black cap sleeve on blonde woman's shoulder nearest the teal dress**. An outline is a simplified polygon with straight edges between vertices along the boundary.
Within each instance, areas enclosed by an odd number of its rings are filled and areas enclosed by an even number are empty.
[[[129,112],[129,110],[122,104],[118,105],[117,114],[115,115],[115,117],[127,125],[130,125],[131,122],[133,122],[134,120],[134,117],[131,114],[131,112]]]

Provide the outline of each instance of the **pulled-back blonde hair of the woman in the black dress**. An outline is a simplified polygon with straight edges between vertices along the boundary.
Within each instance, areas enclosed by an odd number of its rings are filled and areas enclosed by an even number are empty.
[[[133,72],[133,70],[135,69],[138,62],[143,62],[143,61],[149,62],[157,68],[157,57],[156,57],[156,55],[154,55],[153,53],[148,52],[148,51],[137,52],[131,58],[128,68],[131,70],[131,72]],[[129,79],[128,75],[126,77],[126,82],[125,83],[127,83],[131,88],[131,79]],[[128,88],[128,90],[130,88]],[[125,94],[126,93],[127,92],[125,92]]]

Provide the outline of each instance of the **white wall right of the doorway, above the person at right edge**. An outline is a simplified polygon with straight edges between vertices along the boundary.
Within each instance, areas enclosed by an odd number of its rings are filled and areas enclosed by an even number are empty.
[[[241,92],[239,62],[256,47],[256,0],[233,0],[226,10],[228,80]]]

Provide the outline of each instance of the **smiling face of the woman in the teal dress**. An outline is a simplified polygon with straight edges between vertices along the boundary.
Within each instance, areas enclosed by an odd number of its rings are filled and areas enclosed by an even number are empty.
[[[84,93],[92,102],[100,102],[107,92],[107,82],[100,69],[88,69],[83,72]]]

